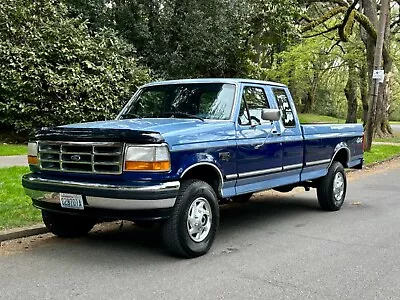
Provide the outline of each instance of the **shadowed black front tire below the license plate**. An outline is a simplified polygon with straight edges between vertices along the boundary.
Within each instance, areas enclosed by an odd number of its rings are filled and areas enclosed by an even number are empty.
[[[96,224],[95,219],[60,214],[42,210],[43,223],[49,231],[59,237],[73,238],[84,236]]]

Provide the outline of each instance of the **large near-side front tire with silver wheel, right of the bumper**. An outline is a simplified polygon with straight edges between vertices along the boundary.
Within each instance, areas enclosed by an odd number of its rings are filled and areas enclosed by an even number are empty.
[[[162,226],[171,254],[193,258],[211,248],[219,225],[219,206],[213,188],[201,180],[184,181],[170,218]]]

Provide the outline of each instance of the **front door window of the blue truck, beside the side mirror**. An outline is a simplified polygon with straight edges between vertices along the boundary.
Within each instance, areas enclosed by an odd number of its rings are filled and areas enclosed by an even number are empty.
[[[262,88],[246,86],[240,104],[239,124],[251,125],[269,123],[261,119],[263,108],[269,108],[268,99]]]

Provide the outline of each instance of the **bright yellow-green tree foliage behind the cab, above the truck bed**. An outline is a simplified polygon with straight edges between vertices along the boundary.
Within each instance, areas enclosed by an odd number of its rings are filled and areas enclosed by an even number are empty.
[[[346,76],[341,49],[328,39],[304,39],[276,55],[262,77],[287,84],[299,112],[343,117]]]

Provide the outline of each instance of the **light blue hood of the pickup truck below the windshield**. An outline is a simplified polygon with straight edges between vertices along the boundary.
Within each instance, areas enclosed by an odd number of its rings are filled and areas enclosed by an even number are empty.
[[[71,124],[58,127],[67,130],[95,130],[159,133],[168,144],[179,145],[234,138],[234,124],[231,121],[204,122],[197,119],[127,119]],[[143,136],[143,135],[142,135]],[[161,140],[160,140],[161,141]]]

